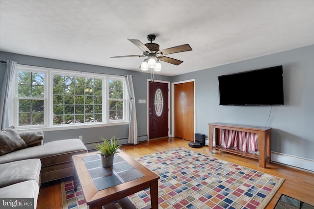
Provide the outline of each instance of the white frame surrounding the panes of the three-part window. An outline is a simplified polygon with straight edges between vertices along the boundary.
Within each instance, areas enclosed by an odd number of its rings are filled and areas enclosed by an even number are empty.
[[[18,114],[18,71],[29,71],[29,72],[42,72],[45,75],[44,80],[44,124],[43,125],[25,125],[19,126],[19,114]],[[53,84],[52,76],[54,74],[69,75],[69,76],[81,76],[81,77],[92,77],[103,80],[103,95],[102,95],[102,105],[103,105],[103,121],[102,122],[93,122],[93,123],[79,123],[79,124],[62,124],[62,125],[53,125]],[[110,120],[109,119],[109,100],[108,100],[108,80],[121,80],[124,84],[124,93],[123,93],[123,116],[122,120]],[[103,126],[112,126],[112,125],[125,125],[129,124],[129,106],[128,106],[128,93],[126,88],[126,81],[124,76],[116,75],[106,75],[100,73],[91,73],[91,72],[82,72],[74,70],[59,70],[52,68],[36,67],[36,66],[27,66],[27,65],[17,65],[14,86],[12,88],[12,94],[9,98],[10,102],[14,105],[10,106],[9,112],[13,113],[13,117],[10,119],[10,124],[14,124],[17,130],[43,130],[43,131],[52,131],[52,130],[66,130],[66,129],[80,129],[80,128],[92,128],[92,127],[103,127]]]

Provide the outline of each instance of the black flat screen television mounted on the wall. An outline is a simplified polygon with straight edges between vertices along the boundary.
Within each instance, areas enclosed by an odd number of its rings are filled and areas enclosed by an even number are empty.
[[[283,105],[283,66],[218,76],[219,105]]]

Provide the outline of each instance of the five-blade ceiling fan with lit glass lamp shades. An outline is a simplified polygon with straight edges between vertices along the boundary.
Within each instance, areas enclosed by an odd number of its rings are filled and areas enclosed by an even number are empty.
[[[180,65],[181,63],[183,63],[183,61],[181,60],[166,57],[164,55],[192,50],[192,48],[188,44],[159,50],[159,45],[156,43],[153,43],[155,39],[156,39],[156,35],[153,35],[153,34],[150,34],[147,36],[147,40],[151,42],[147,44],[143,44],[141,41],[137,39],[128,39],[131,43],[133,43],[135,46],[139,47],[143,51],[143,55],[125,55],[125,56],[115,56],[115,57],[110,57],[110,58],[147,57],[147,59],[145,59],[142,62],[140,68],[142,70],[148,70],[149,68],[154,68],[155,71],[160,71],[161,65],[159,61],[167,62],[173,65]]]

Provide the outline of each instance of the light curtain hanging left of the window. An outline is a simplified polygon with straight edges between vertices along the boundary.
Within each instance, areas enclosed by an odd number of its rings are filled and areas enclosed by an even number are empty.
[[[0,91],[0,127],[1,129],[7,128],[9,124],[9,95],[13,86],[14,73],[17,62],[12,60],[6,61],[6,71]],[[12,114],[10,114],[12,115]]]

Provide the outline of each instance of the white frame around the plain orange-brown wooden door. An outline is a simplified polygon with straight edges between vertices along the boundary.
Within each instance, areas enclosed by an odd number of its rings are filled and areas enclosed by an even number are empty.
[[[178,81],[171,83],[171,137],[175,137],[175,85],[181,83],[193,82],[194,86],[194,133],[196,133],[196,93],[195,93],[195,79],[185,80],[185,81]]]

